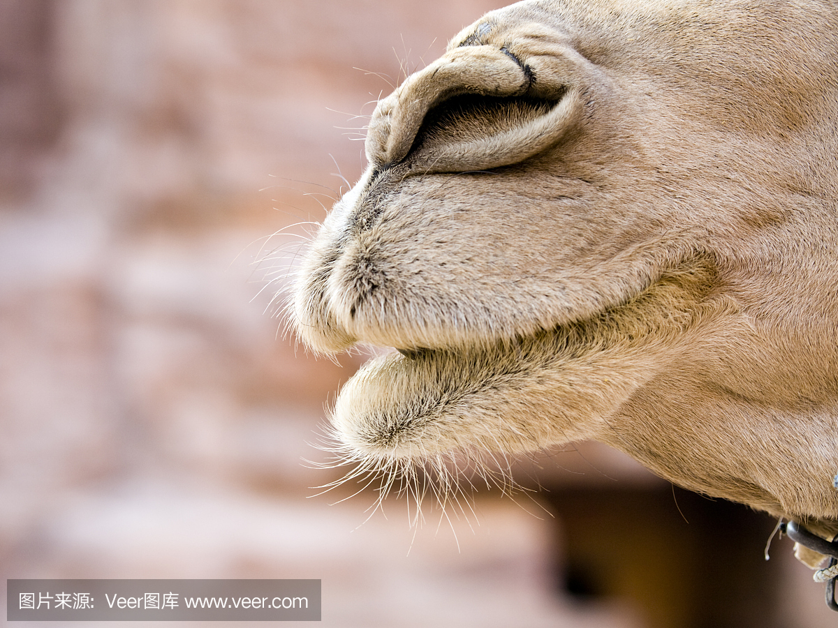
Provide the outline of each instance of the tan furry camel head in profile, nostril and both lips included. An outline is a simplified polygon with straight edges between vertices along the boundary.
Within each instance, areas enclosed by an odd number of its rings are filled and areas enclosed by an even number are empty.
[[[349,457],[594,439],[838,531],[838,4],[518,3],[366,147],[293,304],[404,353],[340,394]]]

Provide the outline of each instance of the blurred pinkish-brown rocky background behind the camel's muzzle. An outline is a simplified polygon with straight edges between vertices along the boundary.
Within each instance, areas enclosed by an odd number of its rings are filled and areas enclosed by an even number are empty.
[[[272,297],[375,100],[503,4],[0,0],[3,578],[318,578],[345,628],[834,625],[768,516],[600,445],[418,531],[317,497],[364,356],[307,356]]]

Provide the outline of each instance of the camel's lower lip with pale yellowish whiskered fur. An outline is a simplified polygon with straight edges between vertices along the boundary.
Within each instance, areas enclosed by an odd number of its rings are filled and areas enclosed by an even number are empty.
[[[668,346],[660,338],[701,318],[713,274],[693,260],[619,306],[551,330],[395,347],[344,385],[335,436],[354,456],[403,461],[591,438],[654,372]]]

